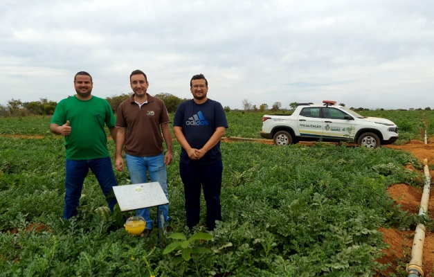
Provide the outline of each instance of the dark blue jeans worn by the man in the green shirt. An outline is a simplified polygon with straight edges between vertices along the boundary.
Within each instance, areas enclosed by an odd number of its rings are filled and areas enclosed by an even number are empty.
[[[91,160],[66,159],[66,193],[65,208],[63,211],[63,217],[66,219],[78,215],[77,207],[80,204],[84,178],[87,176],[89,168],[98,180],[102,193],[104,193],[105,196],[110,193],[112,187],[118,186],[113,168],[111,167],[110,157]],[[116,200],[108,202],[112,213],[116,203]]]

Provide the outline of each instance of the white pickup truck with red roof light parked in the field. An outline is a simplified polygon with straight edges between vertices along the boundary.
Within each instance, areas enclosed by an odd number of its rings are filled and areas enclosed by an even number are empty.
[[[385,118],[365,117],[351,109],[324,100],[323,104],[298,104],[293,114],[266,114],[261,136],[275,145],[298,141],[355,141],[367,148],[394,143],[398,127]]]

